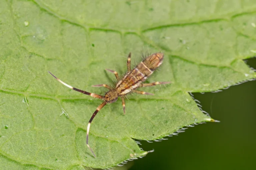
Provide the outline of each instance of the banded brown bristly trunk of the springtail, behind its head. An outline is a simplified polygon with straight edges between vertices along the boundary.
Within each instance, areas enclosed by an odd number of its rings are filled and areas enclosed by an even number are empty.
[[[141,61],[117,83],[116,88],[120,91],[120,94],[125,95],[139,87],[162,64],[163,58],[164,54],[158,52]]]

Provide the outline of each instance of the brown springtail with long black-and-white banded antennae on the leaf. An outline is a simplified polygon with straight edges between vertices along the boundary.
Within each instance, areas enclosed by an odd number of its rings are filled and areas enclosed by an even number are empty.
[[[154,83],[142,84],[142,82],[145,81],[154,72],[154,70],[162,64],[163,58],[164,58],[163,53],[160,53],[160,52],[154,53],[154,54],[144,58],[144,60],[141,61],[134,69],[131,69],[131,53],[129,53],[128,59],[127,59],[127,73],[125,74],[125,76],[123,78],[120,79],[118,76],[118,73],[116,71],[106,69],[107,71],[114,73],[116,76],[116,79],[118,80],[115,88],[111,88],[106,84],[99,84],[99,85],[92,86],[92,87],[108,88],[109,91],[104,96],[94,94],[94,93],[89,93],[89,92],[77,89],[75,87],[72,87],[72,86],[64,83],[63,81],[61,81],[60,79],[55,77],[51,72],[48,71],[54,78],[56,78],[59,82],[61,82],[65,86],[67,86],[75,91],[78,91],[80,93],[90,95],[92,97],[99,98],[99,99],[103,100],[103,103],[101,105],[99,105],[97,107],[96,111],[93,113],[91,119],[89,120],[88,126],[87,126],[86,144],[89,147],[89,149],[91,150],[91,152],[95,158],[96,158],[96,156],[88,144],[89,130],[90,130],[90,125],[91,125],[93,118],[107,103],[116,102],[118,97],[121,97],[121,99],[122,99],[123,111],[125,114],[124,98],[125,98],[125,95],[127,95],[128,93],[134,92],[134,93],[139,93],[139,94],[154,95],[154,94],[147,93],[144,91],[135,90],[138,87],[147,87],[147,86],[155,86],[157,84],[171,83],[171,82],[154,82]]]

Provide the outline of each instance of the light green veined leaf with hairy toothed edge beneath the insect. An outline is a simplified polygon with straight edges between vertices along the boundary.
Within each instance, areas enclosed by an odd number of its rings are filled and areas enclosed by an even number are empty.
[[[133,139],[155,140],[214,121],[188,92],[210,92],[256,77],[243,59],[256,51],[256,4],[247,1],[0,2],[0,162],[3,169],[109,168],[146,155]],[[126,57],[165,54],[147,82],[172,81],[105,106],[56,81],[91,85],[126,72]],[[134,63],[134,62],[133,62]],[[203,135],[203,134],[202,134]]]

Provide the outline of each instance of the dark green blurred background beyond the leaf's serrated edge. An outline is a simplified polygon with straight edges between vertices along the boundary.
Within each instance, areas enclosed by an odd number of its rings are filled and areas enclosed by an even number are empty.
[[[256,58],[246,62],[256,68]],[[256,169],[256,81],[194,97],[221,122],[197,125],[161,142],[141,141],[144,150],[155,151],[133,161],[130,170]]]

